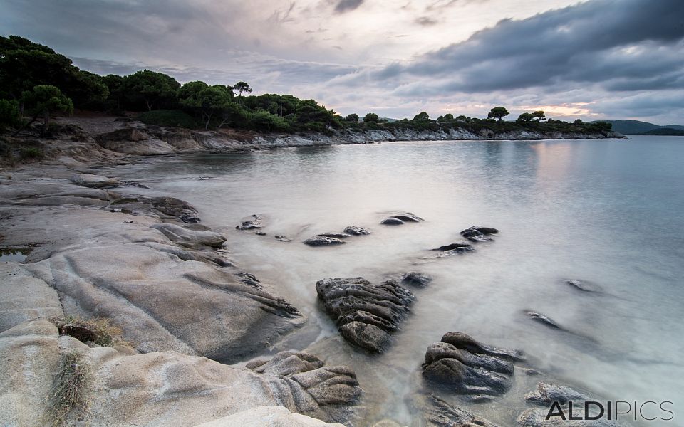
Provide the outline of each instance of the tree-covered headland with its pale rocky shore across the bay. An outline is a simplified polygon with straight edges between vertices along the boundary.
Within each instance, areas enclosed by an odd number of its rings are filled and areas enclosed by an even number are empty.
[[[139,134],[135,137],[130,132],[105,137],[107,149],[126,145],[123,150],[129,154],[187,152],[187,146],[226,151],[236,146],[235,138],[249,142],[237,144],[242,149],[258,149],[388,140],[621,137],[611,131],[609,122],[564,122],[547,118],[541,110],[524,112],[517,120],[504,120],[510,113],[502,106],[493,107],[483,118],[447,113],[432,119],[427,112],[401,120],[381,118],[375,112],[342,117],[316,100],[275,93],[251,95],[252,90],[244,81],[181,85],[172,76],[152,70],[98,75],[78,69],[71,59],[48,46],[19,36],[0,37],[0,133],[5,135],[0,137],[0,157],[14,162],[47,154],[41,146],[24,147],[28,137],[101,142],[99,134],[120,131],[123,122],[147,126],[135,125]],[[77,129],[82,122],[68,120],[72,115],[74,119],[96,115],[103,120],[97,132],[83,133]],[[180,137],[170,137],[160,128],[186,130],[183,138],[192,142],[175,147]],[[215,132],[220,140],[207,142],[207,134],[201,132]],[[150,140],[154,142],[147,142],[147,148],[140,142]],[[131,142],[140,147],[130,147]]]

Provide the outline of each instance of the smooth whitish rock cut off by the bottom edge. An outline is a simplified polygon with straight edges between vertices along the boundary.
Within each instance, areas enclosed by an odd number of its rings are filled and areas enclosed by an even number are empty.
[[[259,406],[247,409],[195,427],[344,427],[338,423],[326,423],[299,413],[291,413],[284,406]]]

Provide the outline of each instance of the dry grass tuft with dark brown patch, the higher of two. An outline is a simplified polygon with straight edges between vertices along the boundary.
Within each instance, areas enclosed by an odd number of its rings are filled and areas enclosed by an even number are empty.
[[[128,345],[121,337],[121,328],[112,325],[108,319],[67,316],[55,318],[53,322],[61,335],[70,335],[81,342],[94,342],[105,347],[113,347],[116,344]]]

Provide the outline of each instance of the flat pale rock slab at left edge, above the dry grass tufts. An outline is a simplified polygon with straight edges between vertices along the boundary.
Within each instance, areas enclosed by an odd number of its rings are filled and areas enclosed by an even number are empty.
[[[57,291],[19,263],[0,263],[0,332],[27,320],[62,317]]]

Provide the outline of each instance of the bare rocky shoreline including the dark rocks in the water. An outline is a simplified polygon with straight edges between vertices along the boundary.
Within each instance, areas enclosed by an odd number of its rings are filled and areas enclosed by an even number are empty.
[[[236,265],[224,231],[202,225],[202,213],[185,201],[142,196],[136,191],[140,183],[97,174],[97,162],[125,162],[129,154],[222,152],[333,139],[272,136],[219,143],[204,132],[117,123],[118,129],[100,133],[67,126],[61,137],[41,141],[53,149],[51,160],[0,174],[0,247],[27,253],[23,262],[0,264],[1,423],[46,425],[56,372],[67,355],[77,353],[91,377],[90,404],[87,413],[71,413],[73,425],[365,426],[355,424],[373,418],[363,416],[371,391],[363,390],[361,376],[372,374],[351,369],[353,354],[393,351],[392,336],[401,333],[410,306],[420,304],[419,290],[429,285],[429,276],[414,271],[380,285],[363,278],[321,278],[311,292],[318,292],[339,337],[301,351],[278,351],[306,317]],[[386,136],[382,140],[390,139]],[[259,221],[254,216],[238,227],[251,230]],[[423,219],[398,213],[385,221],[383,226],[396,226]],[[373,238],[369,233],[361,224],[316,237]],[[467,228],[461,235],[469,242],[439,246],[437,256],[473,251],[497,233]],[[408,288],[416,288],[415,295]],[[65,316],[108,319],[120,327],[124,344],[103,346],[60,334],[53,320]],[[438,333],[441,342],[426,349],[424,361],[414,361],[425,382],[413,396],[412,426],[495,427],[454,406],[451,398],[496,405],[493,399],[507,394],[514,381],[525,387],[538,382],[520,352],[460,332]],[[324,346],[334,347],[342,362],[316,356]],[[275,354],[237,364],[266,350]],[[552,384],[549,376],[539,379],[529,403],[516,406],[524,408],[519,426],[556,425],[544,420],[546,406],[537,406],[549,399],[589,399]],[[372,423],[399,426],[392,420]]]

